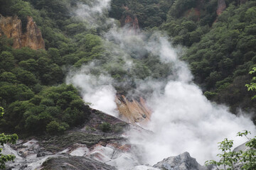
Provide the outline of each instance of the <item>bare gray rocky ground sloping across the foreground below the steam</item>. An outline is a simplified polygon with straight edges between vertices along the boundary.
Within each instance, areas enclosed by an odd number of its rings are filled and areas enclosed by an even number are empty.
[[[206,170],[188,152],[169,157],[154,166],[144,165],[141,147],[129,143],[129,132],[152,132],[92,109],[80,128],[63,135],[32,137],[5,145],[4,154],[15,154],[7,169],[134,169]],[[109,123],[102,132],[102,123]]]

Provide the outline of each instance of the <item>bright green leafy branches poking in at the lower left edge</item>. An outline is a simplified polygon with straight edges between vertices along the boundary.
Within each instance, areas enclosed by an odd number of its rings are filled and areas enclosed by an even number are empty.
[[[0,117],[4,115],[4,108],[0,107]],[[14,135],[4,135],[4,133],[0,134],[0,145],[4,147],[4,144],[11,143],[16,144],[16,140],[18,140],[18,136]],[[0,169],[5,169],[6,162],[14,161],[15,156],[12,154],[1,154],[2,148],[0,148]]]

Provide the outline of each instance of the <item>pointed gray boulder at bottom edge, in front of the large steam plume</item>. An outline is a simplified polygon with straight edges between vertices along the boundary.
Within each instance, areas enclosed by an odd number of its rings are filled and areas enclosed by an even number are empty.
[[[190,156],[188,152],[179,154],[176,157],[169,157],[154,165],[155,168],[166,170],[207,170],[205,166],[201,166],[196,159]]]

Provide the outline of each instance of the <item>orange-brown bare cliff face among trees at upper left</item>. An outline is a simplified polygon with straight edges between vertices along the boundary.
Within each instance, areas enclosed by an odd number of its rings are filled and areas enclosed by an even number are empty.
[[[21,20],[17,16],[0,18],[0,36],[13,38],[14,48],[31,47],[33,50],[45,49],[41,30],[36,26],[31,16],[28,16],[26,33],[22,33]]]

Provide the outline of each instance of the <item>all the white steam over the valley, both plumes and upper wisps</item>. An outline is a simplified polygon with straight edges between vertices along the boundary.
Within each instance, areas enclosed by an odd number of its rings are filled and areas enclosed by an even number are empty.
[[[90,20],[95,12],[101,13],[102,8],[108,8],[109,3],[110,0],[106,0],[92,7],[80,6],[77,14]],[[161,33],[146,38],[143,34],[132,35],[128,30],[112,28],[105,34],[105,40],[114,42],[119,49],[137,58],[151,52],[163,64],[170,64],[173,70],[173,74],[164,81],[151,77],[136,81],[137,91],[152,91],[146,102],[153,113],[151,122],[145,128],[152,130],[154,136],[134,133],[131,137],[132,143],[144,147],[145,163],[156,164],[166,157],[188,151],[203,164],[208,159],[215,159],[217,142],[224,137],[235,140],[234,144],[238,146],[246,140],[235,137],[237,132],[250,130],[256,134],[250,118],[236,117],[228,112],[227,107],[210,103],[203,96],[201,89],[193,84],[187,64],[179,60],[181,47],[172,47]],[[128,65],[132,67],[132,60],[127,57],[124,60],[125,70]],[[80,88],[84,100],[92,103],[92,108],[117,116],[115,82],[107,74],[94,76],[90,72],[92,67],[93,64],[90,64],[70,72],[67,82]]]

